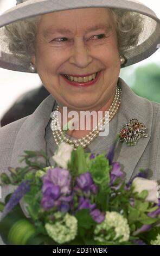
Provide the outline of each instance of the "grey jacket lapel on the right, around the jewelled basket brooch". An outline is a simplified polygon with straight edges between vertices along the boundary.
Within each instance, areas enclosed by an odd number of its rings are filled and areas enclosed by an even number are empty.
[[[145,125],[146,133],[149,135],[147,138],[139,138],[137,145],[134,146],[127,146],[125,141],[117,145],[114,160],[123,166],[126,178],[130,179],[133,174],[135,175],[134,169],[151,139],[153,108],[150,101],[133,93],[121,78],[119,78],[119,85],[122,96],[117,133],[130,119],[136,118]]]

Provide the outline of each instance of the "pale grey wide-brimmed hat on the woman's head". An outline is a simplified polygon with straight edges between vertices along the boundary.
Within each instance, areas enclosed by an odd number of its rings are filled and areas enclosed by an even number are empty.
[[[148,58],[160,47],[160,20],[151,9],[136,0],[17,0],[14,8],[5,11],[0,16],[0,68],[31,72],[29,70],[30,62],[25,62],[24,56],[19,54],[17,58],[9,51],[4,35],[4,26],[53,11],[93,7],[124,9],[143,16],[143,32],[140,33],[137,46],[132,46],[125,51],[124,55],[127,62],[124,66]]]

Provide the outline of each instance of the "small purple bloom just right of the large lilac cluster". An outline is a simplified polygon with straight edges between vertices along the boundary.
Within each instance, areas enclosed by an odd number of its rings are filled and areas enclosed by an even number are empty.
[[[91,173],[87,172],[85,174],[81,174],[78,178],[76,178],[76,186],[74,187],[74,191],[76,192],[88,192],[88,196],[91,193],[97,194],[98,186],[94,184]]]

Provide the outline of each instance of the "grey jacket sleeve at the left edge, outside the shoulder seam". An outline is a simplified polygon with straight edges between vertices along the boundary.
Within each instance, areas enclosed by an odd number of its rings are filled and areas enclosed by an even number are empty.
[[[6,172],[10,166],[15,139],[27,118],[28,116],[0,128],[0,174]]]

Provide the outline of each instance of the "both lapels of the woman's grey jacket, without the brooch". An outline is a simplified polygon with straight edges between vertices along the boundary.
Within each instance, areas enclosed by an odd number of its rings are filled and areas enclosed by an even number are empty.
[[[125,141],[118,143],[114,160],[123,166],[127,178],[130,178],[150,141],[153,110],[151,102],[133,93],[121,78],[119,78],[119,86],[121,87],[122,95],[121,105],[117,113],[117,133],[130,119],[137,118],[146,126],[146,132],[149,134],[148,138],[140,138],[138,144],[132,147],[127,146]],[[44,137],[54,105],[55,100],[52,95],[49,95],[37,107],[35,112],[25,119],[15,140],[10,166],[23,167],[25,165],[24,162],[18,163],[20,156],[24,155],[24,150],[43,149],[46,151]],[[44,160],[41,161],[44,162]]]

